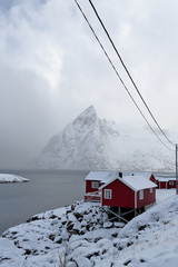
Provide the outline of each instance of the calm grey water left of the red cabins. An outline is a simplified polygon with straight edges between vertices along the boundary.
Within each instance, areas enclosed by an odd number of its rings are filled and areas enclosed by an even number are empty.
[[[0,184],[0,235],[9,227],[24,222],[34,214],[83,199],[83,179],[87,171],[13,170],[9,172],[29,178],[31,181]]]

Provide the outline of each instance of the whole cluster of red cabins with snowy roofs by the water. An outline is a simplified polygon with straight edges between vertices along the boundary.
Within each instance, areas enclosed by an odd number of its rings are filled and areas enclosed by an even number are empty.
[[[86,201],[99,201],[122,215],[142,212],[156,202],[156,188],[176,188],[176,178],[150,172],[90,171],[86,177]],[[123,219],[125,220],[125,219]]]

